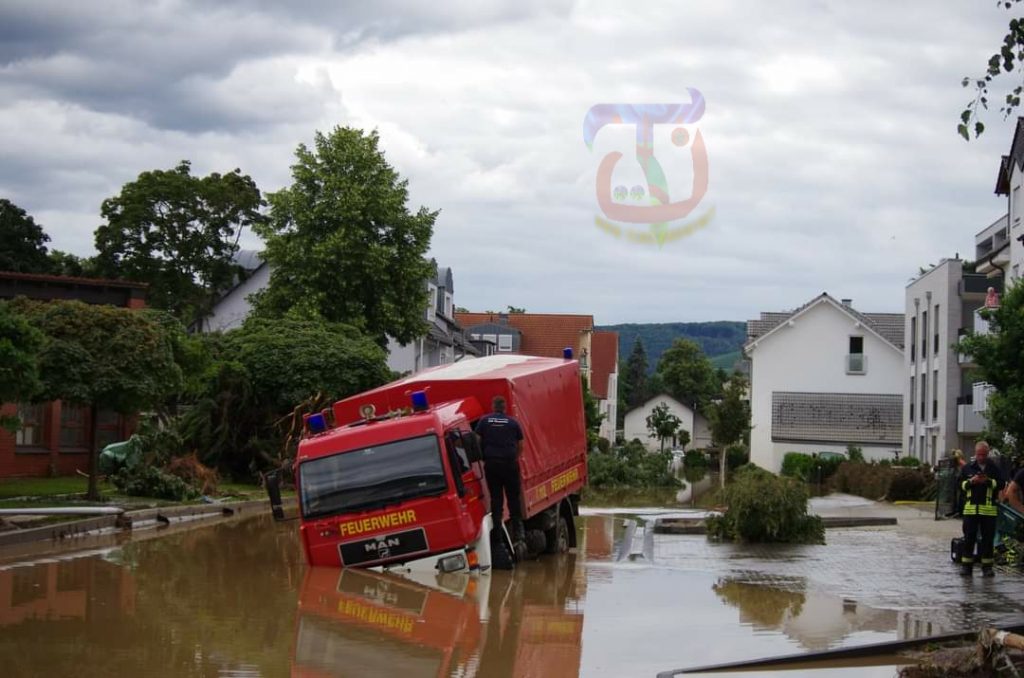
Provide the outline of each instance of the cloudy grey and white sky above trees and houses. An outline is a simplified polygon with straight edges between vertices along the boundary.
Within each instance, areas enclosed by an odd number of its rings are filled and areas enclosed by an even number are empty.
[[[141,171],[189,159],[274,190],[314,130],[376,128],[411,207],[441,210],[459,305],[744,320],[824,290],[902,310],[919,266],[969,255],[1006,211],[1012,124],[992,112],[971,143],[955,124],[1009,19],[978,0],[4,0],[0,197],[87,255],[101,201]],[[646,181],[634,127],[588,147],[588,110],[690,89],[702,118],[684,145],[655,126],[654,156],[689,198],[699,132],[708,190],[670,228],[706,225],[662,247],[602,230],[601,160],[624,154],[615,186]]]

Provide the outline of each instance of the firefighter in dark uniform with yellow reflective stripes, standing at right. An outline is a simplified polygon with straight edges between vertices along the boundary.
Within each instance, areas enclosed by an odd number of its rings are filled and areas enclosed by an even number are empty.
[[[961,470],[964,502],[964,550],[961,552],[961,575],[970,577],[974,570],[975,541],[981,533],[981,571],[992,577],[993,541],[997,509],[995,500],[1002,490],[1002,472],[988,458],[988,443],[979,440],[974,449],[974,461]]]

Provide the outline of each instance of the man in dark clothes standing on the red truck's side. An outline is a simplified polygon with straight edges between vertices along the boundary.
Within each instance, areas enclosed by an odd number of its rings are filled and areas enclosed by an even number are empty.
[[[476,422],[475,433],[480,436],[483,452],[483,474],[490,493],[490,516],[495,526],[502,524],[505,515],[504,500],[509,504],[509,518],[512,522],[512,541],[525,540],[522,527],[522,494],[519,481],[519,453],[522,450],[522,428],[515,418],[505,412],[505,398],[496,396],[490,402],[494,409]]]

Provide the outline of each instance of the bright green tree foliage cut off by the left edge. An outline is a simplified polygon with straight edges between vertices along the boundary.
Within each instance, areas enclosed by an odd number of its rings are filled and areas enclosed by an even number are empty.
[[[39,350],[43,335],[7,302],[0,301],[0,402],[35,399],[39,381]],[[17,417],[0,417],[0,427],[15,430]]]

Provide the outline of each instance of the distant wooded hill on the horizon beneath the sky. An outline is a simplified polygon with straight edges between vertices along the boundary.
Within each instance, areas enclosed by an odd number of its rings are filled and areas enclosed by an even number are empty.
[[[736,321],[712,323],[627,323],[603,325],[598,330],[618,333],[618,357],[625,361],[633,350],[637,337],[647,351],[647,364],[653,371],[662,353],[680,337],[692,339],[700,345],[715,367],[729,371],[741,357],[740,349],[746,341],[746,324]],[[727,364],[727,365],[726,365]]]

